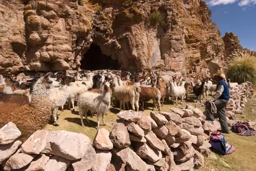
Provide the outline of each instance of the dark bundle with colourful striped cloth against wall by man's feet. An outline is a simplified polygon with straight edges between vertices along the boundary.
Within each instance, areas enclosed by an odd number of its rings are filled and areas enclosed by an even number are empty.
[[[212,145],[212,150],[220,155],[229,155],[235,150],[235,146],[232,146],[230,142],[227,142],[224,135],[218,131],[214,131],[211,134],[209,143]]]

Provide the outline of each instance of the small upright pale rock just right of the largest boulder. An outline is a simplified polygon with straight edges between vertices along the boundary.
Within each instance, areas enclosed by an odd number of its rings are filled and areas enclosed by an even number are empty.
[[[110,140],[110,133],[107,129],[99,129],[94,137],[93,145],[99,150],[111,150],[113,143]]]

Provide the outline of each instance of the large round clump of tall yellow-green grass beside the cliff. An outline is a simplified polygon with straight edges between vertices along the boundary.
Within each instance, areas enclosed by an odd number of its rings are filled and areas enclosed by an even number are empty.
[[[235,57],[227,68],[227,77],[233,82],[250,81],[256,85],[256,57],[248,54]]]

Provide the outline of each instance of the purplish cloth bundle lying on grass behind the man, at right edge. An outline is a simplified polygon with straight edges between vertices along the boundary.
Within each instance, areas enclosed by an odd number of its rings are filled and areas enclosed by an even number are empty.
[[[243,136],[251,136],[256,134],[256,130],[253,129],[248,122],[235,123],[232,127],[232,131]]]

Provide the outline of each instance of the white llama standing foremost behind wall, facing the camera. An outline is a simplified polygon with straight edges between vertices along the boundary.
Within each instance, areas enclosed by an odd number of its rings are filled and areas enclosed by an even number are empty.
[[[84,92],[77,99],[79,107],[79,116],[81,118],[81,126],[84,127],[83,116],[87,118],[87,111],[90,110],[92,113],[97,113],[97,129],[99,129],[100,118],[103,119],[103,125],[105,125],[105,114],[110,109],[111,103],[111,89],[110,83],[106,82],[102,93],[97,92]]]

